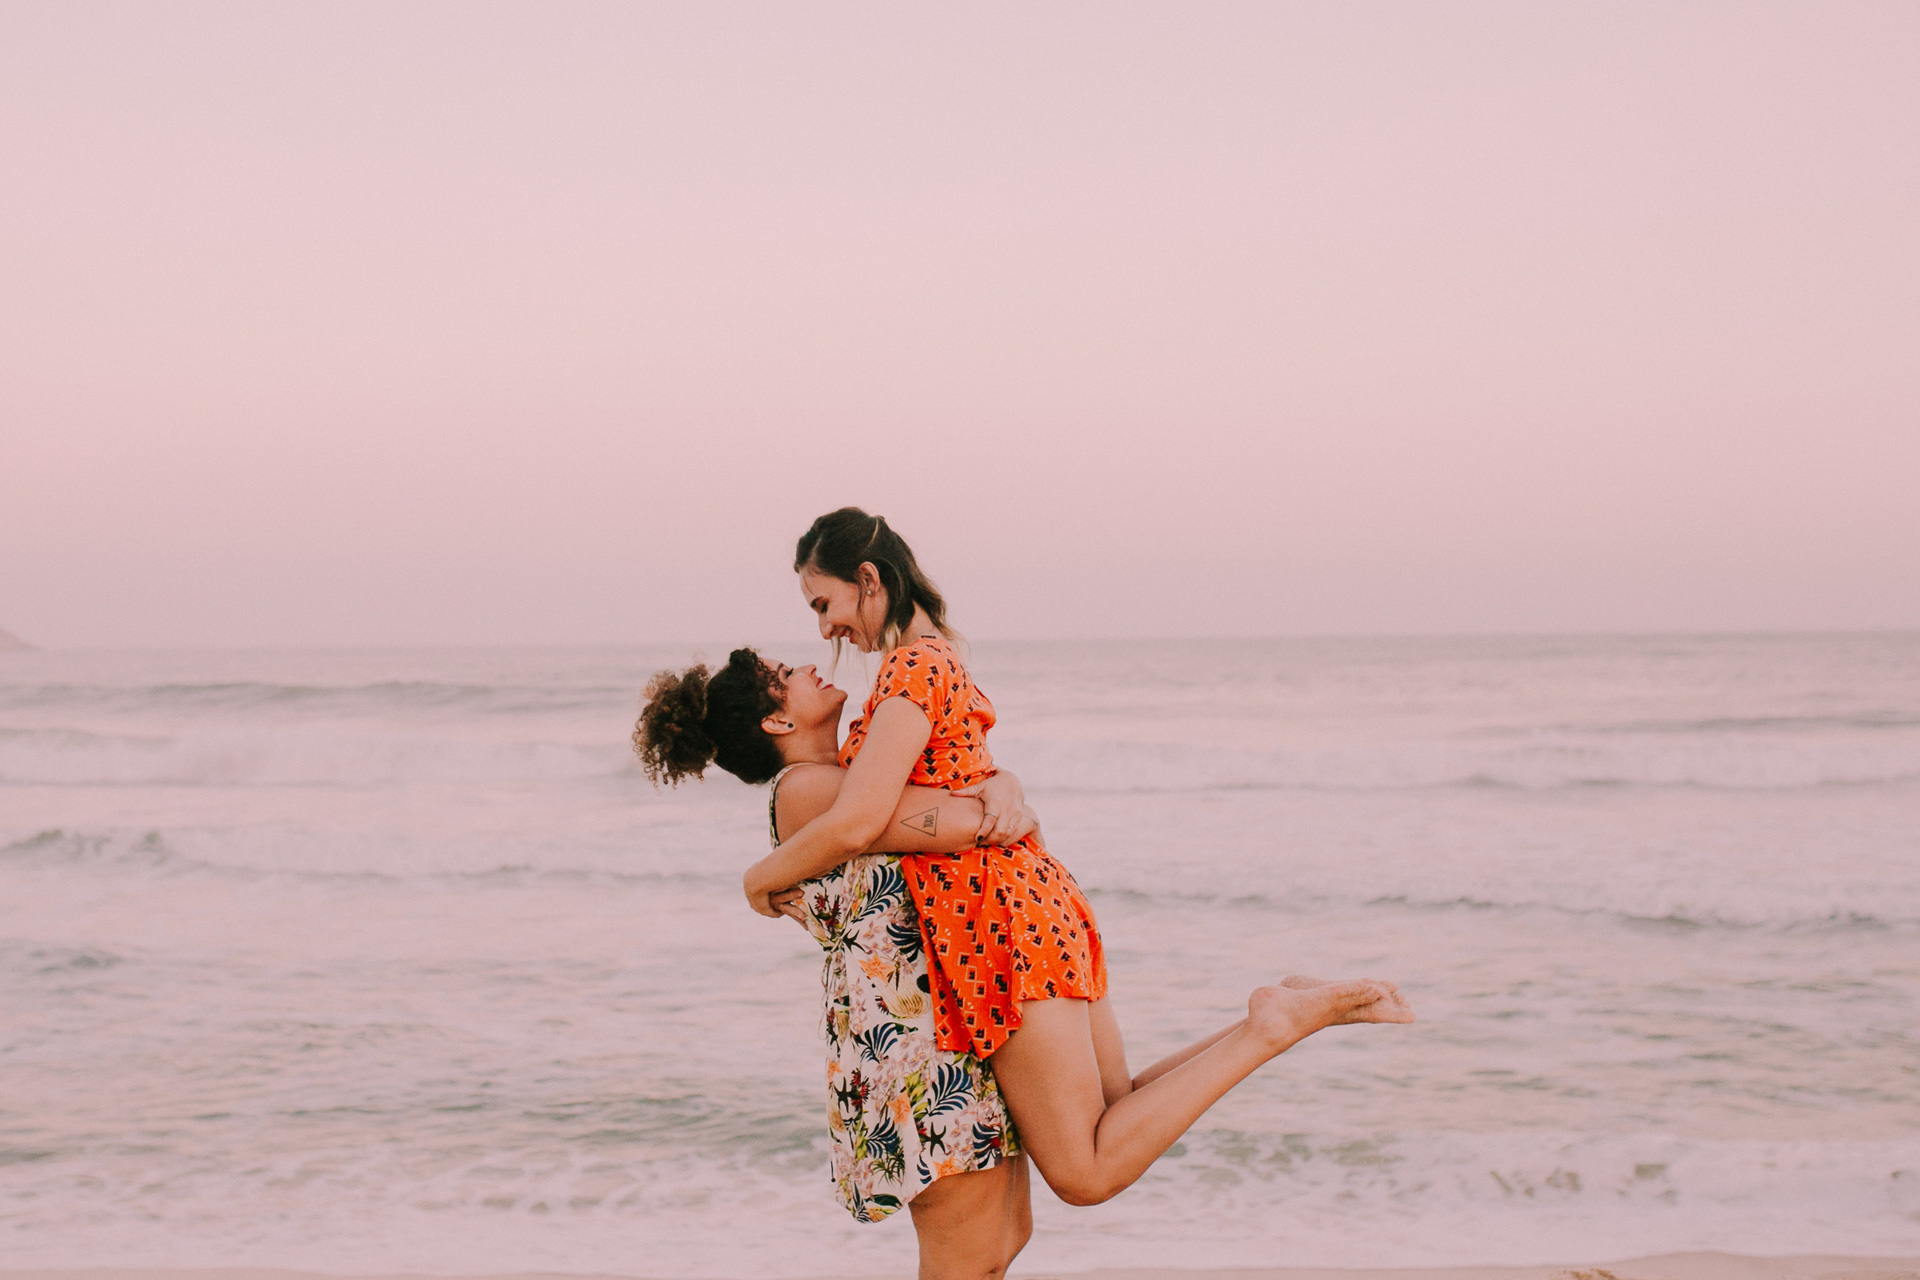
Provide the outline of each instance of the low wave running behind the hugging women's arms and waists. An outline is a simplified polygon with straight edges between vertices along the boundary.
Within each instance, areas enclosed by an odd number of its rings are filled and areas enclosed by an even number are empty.
[[[733,904],[739,852],[724,831],[680,829],[678,846],[636,848],[626,842],[574,841],[553,850],[476,848],[467,837],[426,846],[384,841],[369,854],[334,842],[309,844],[278,831],[161,833],[142,829],[46,829],[0,844],[0,867],[129,875],[213,877],[246,883],[324,883],[388,892],[639,892]],[[518,856],[515,856],[518,854]],[[507,860],[513,858],[513,860]],[[1069,858],[1071,860],[1071,858]],[[1164,883],[1162,864],[1083,864],[1077,879],[1104,913],[1148,912],[1156,921],[1286,921],[1302,915],[1354,919],[1361,927],[1425,929],[1419,917],[1486,917],[1505,927],[1528,915],[1590,921],[1630,933],[1709,935],[1862,935],[1920,929],[1920,889],[1747,885],[1724,875],[1695,875],[1661,885],[1590,877],[1511,877],[1450,865],[1436,875],[1425,864],[1375,865],[1361,881],[1340,867],[1221,867],[1213,890]],[[1444,881],[1448,887],[1440,887]],[[1463,889],[1463,885],[1467,885]],[[292,890],[292,889],[290,889]],[[1390,925],[1390,921],[1402,925]],[[1371,921],[1371,923],[1367,923]],[[1158,927],[1158,925],[1156,925]],[[1238,927],[1238,925],[1235,925]]]

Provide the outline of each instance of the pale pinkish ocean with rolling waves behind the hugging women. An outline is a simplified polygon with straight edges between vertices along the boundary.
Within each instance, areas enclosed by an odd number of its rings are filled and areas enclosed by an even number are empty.
[[[908,1268],[826,1176],[818,948],[739,894],[764,791],[628,752],[691,654],[0,654],[0,1267]],[[1037,1180],[1021,1267],[1920,1251],[1920,635],[973,670],[1137,1065],[1286,973],[1421,1017],[1108,1205]]]

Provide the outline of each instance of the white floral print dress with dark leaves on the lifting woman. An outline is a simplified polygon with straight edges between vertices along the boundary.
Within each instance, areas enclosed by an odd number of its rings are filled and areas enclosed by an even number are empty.
[[[791,768],[768,800],[774,844]],[[993,1069],[933,1044],[927,952],[900,860],[860,854],[801,890],[806,931],[826,950],[828,1163],[847,1211],[877,1222],[947,1174],[1016,1155]]]

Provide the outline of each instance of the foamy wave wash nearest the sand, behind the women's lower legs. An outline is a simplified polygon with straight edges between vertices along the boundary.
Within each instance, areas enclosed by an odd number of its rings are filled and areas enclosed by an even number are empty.
[[[100,1265],[616,1272],[632,1268],[636,1238],[649,1240],[651,1267],[680,1276],[812,1276],[833,1267],[828,1259],[862,1274],[912,1265],[910,1232],[854,1226],[818,1190],[810,1115],[780,1125],[785,1144],[758,1161],[724,1144],[659,1153],[624,1130],[603,1130],[593,1146],[543,1132],[453,1146],[445,1115],[376,1119],[405,1126],[407,1150],[432,1159],[396,1157],[392,1140],[292,1146],[305,1134],[280,1117],[271,1132],[292,1151],[244,1165],[142,1148],[138,1163],[94,1159],[81,1178],[60,1153],[23,1150],[31,1165],[17,1180],[29,1197],[4,1257],[60,1265],[84,1226]],[[472,1113],[461,1119],[474,1126]],[[286,1203],[290,1182],[303,1207],[324,1209],[265,1211]],[[336,1209],[349,1194],[351,1211]],[[1023,1263],[1052,1272],[1260,1267],[1277,1253],[1298,1267],[1542,1267],[1701,1249],[1893,1255],[1912,1249],[1914,1213],[1910,1138],[1206,1126],[1110,1205],[1068,1209],[1041,1192]]]

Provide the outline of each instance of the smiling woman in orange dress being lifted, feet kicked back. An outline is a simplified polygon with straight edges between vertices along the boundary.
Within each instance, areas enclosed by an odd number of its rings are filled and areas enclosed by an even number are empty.
[[[762,915],[780,913],[781,890],[868,848],[904,787],[960,791],[995,773],[993,704],[900,535],[879,516],[835,510],[801,537],[795,572],[820,635],[883,660],[831,806],[745,875]],[[1315,1031],[1413,1021],[1392,983],[1290,977],[1254,990],[1242,1021],[1129,1075],[1092,906],[1039,835],[995,842],[1012,819],[973,850],[900,865],[925,931],[937,1044],[989,1059],[1021,1146],[1068,1203],[1131,1186],[1229,1088]]]

